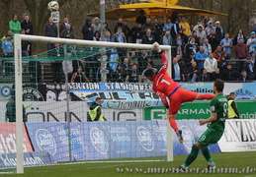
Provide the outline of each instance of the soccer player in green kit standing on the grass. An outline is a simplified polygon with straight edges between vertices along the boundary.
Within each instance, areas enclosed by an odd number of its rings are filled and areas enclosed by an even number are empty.
[[[215,97],[211,101],[212,115],[208,119],[201,119],[199,121],[200,125],[209,124],[209,128],[193,145],[185,163],[179,166],[179,171],[186,171],[187,167],[197,158],[200,148],[208,161],[208,168],[215,168],[215,163],[213,162],[208,146],[217,143],[224,132],[225,118],[227,115],[227,99],[222,93],[223,88],[224,82],[222,80],[214,81],[213,92]]]

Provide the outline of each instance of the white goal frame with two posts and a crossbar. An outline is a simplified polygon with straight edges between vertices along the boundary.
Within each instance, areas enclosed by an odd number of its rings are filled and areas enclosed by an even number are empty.
[[[74,45],[102,46],[102,47],[117,47],[117,48],[132,48],[132,49],[150,49],[153,50],[152,44],[134,44],[134,43],[118,43],[105,41],[92,41],[83,39],[67,39],[57,37],[46,37],[39,35],[15,34],[14,35],[14,63],[15,63],[15,98],[16,98],[16,148],[17,148],[17,167],[16,173],[24,173],[24,153],[23,153],[23,119],[19,115],[23,115],[22,108],[22,40],[64,43]],[[161,50],[165,50],[168,62],[171,64],[171,46],[160,45]],[[168,74],[171,76],[171,65],[168,67]],[[167,121],[167,161],[173,161],[173,139],[172,128]]]

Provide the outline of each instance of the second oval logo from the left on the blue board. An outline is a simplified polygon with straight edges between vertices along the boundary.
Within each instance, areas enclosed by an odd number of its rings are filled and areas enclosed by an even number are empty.
[[[102,130],[98,128],[93,128],[90,131],[90,141],[93,145],[93,147],[100,153],[107,153],[109,150],[109,143],[105,136],[105,134],[102,132]]]

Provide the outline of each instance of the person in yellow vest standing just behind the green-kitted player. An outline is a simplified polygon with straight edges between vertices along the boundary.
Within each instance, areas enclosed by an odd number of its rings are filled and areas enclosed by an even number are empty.
[[[229,96],[227,98],[227,118],[228,119],[239,119],[239,111],[237,109],[237,105],[236,102],[234,101],[235,99],[235,93],[234,92],[230,92]]]

